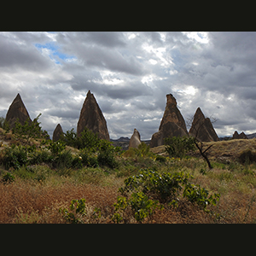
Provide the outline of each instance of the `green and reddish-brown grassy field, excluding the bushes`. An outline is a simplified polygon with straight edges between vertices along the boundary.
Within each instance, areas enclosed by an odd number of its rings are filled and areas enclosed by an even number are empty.
[[[0,138],[1,139],[1,138]],[[3,140],[3,137],[2,137]],[[8,140],[4,137],[4,141]],[[205,143],[205,146],[211,143]],[[72,212],[71,201],[85,199],[83,214],[74,213],[81,223],[115,223],[113,214],[119,188],[125,186],[125,179],[136,176],[141,170],[150,169],[165,173],[183,172],[189,182],[207,189],[209,195],[218,194],[216,206],[207,206],[207,212],[197,204],[178,195],[178,206],[170,207],[165,201],[162,208],[137,221],[134,212],[125,208],[124,219],[120,223],[255,223],[256,222],[256,164],[241,164],[238,157],[242,151],[256,148],[256,140],[231,140],[213,143],[208,156],[212,170],[198,154],[179,159],[163,154],[164,148],[151,148],[148,154],[116,154],[117,166],[80,168],[54,167],[41,163],[20,168],[6,168],[0,163],[0,223],[70,223],[60,209]],[[1,154],[3,160],[3,148]],[[69,148],[71,149],[71,148]],[[78,151],[73,148],[73,154]],[[154,154],[152,153],[154,152]],[[165,155],[165,154],[164,154]],[[4,182],[7,173],[15,178]],[[149,198],[154,198],[150,197]],[[150,200],[149,200],[150,201]],[[148,201],[146,201],[148,202]]]

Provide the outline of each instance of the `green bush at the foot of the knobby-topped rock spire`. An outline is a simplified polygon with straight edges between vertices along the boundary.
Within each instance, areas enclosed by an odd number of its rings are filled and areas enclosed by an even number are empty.
[[[167,137],[165,139],[166,153],[172,157],[183,158],[189,151],[195,151],[194,137]]]

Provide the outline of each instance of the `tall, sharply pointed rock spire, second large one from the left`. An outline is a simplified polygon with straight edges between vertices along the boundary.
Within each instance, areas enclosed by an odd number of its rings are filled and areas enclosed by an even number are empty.
[[[87,127],[90,131],[97,133],[101,139],[109,140],[108,127],[106,119],[102,114],[102,110],[96,102],[96,98],[90,93],[84,100],[83,108],[80,112],[77,135],[81,136],[81,132]]]

